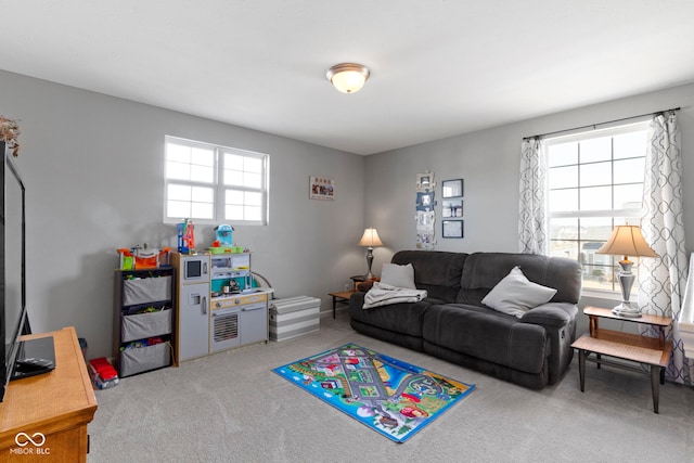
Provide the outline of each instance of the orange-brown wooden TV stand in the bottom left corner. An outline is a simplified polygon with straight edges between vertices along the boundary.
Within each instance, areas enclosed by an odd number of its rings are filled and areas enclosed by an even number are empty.
[[[87,461],[87,424],[94,417],[97,397],[75,329],[22,339],[44,336],[54,339],[55,370],[10,383],[0,403],[2,462]]]

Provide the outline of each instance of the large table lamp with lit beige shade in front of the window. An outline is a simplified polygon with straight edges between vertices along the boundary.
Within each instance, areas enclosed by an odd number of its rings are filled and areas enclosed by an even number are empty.
[[[629,256],[632,257],[658,257],[655,250],[648,246],[648,243],[643,239],[641,234],[641,228],[637,226],[617,226],[613,229],[609,240],[595,252],[595,254],[607,254],[613,256],[624,256],[624,259],[619,261],[621,271],[617,275],[619,279],[619,286],[621,287],[621,304],[615,307],[612,311],[619,317],[641,317],[641,309],[638,306],[632,306],[629,301],[629,295],[631,294],[631,286],[635,276],[631,273],[631,266],[633,262],[629,260]]]

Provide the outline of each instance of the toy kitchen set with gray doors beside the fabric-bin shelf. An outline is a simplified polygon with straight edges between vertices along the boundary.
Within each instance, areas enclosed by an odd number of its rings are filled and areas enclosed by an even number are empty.
[[[171,256],[178,290],[177,362],[268,342],[272,290],[256,286],[250,253],[232,244],[231,232],[230,226],[217,227],[208,254]]]

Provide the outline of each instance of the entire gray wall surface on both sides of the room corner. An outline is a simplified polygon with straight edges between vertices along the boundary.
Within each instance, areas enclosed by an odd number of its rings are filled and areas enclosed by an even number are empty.
[[[376,227],[385,246],[374,272],[414,248],[414,183],[435,173],[440,250],[517,250],[518,166],[523,137],[682,106],[687,249],[694,248],[694,85],[361,157],[15,74],[0,72],[0,113],[20,119],[17,159],[27,184],[28,305],[34,331],[74,325],[89,357],[110,355],[113,269],[118,247],[176,244],[164,224],[164,136],[268,153],[270,223],[235,227],[253,267],[279,297],[321,297],[364,272],[356,246]],[[336,181],[333,202],[308,200],[308,177]],[[440,237],[440,183],[465,181],[463,240]],[[196,227],[208,245],[211,227]],[[583,303],[609,305],[602,299]]]

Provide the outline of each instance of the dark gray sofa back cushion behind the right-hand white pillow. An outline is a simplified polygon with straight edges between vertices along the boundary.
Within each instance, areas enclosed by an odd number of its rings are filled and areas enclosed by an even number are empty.
[[[471,304],[474,303],[470,300],[471,295],[484,297],[516,266],[531,282],[555,288],[556,294],[552,297],[552,301],[578,304],[582,281],[581,266],[578,261],[564,257],[511,253],[468,255],[465,259],[460,283],[461,291],[457,300]]]

